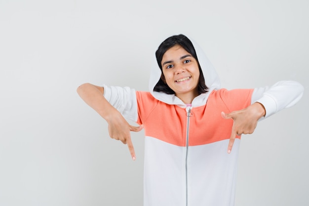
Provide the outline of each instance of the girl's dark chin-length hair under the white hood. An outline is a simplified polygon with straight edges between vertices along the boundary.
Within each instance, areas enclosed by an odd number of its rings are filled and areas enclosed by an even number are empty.
[[[196,59],[198,69],[199,69],[199,81],[198,81],[198,85],[197,85],[197,91],[198,91],[198,94],[206,93],[208,91],[208,87],[205,84],[203,72],[202,72],[200,65],[198,63],[198,59],[197,59],[197,56],[196,56],[194,46],[193,46],[192,42],[185,35],[182,35],[182,34],[175,35],[175,36],[167,38],[165,41],[163,41],[159,45],[158,49],[155,52],[156,61],[159,65],[159,67],[160,67],[162,74],[161,74],[160,80],[154,86],[154,91],[162,91],[166,94],[175,94],[175,92],[165,82],[165,78],[164,78],[163,71],[162,71],[162,65],[161,65],[161,61],[162,61],[164,53],[169,48],[171,48],[175,45],[180,45],[181,47],[183,47],[187,52],[189,52]]]

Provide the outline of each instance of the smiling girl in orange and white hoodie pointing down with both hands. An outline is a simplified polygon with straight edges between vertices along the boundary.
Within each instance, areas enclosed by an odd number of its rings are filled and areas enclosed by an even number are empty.
[[[294,105],[303,86],[220,89],[205,54],[184,35],[163,41],[155,57],[149,92],[90,83],[77,92],[133,160],[130,131],[145,129],[144,206],[233,206],[240,135]]]

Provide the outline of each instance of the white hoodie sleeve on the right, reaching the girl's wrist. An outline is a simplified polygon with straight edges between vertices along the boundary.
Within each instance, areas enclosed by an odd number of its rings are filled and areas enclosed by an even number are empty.
[[[303,96],[304,87],[294,81],[281,81],[272,86],[255,88],[251,103],[259,102],[266,110],[265,118],[295,105]]]

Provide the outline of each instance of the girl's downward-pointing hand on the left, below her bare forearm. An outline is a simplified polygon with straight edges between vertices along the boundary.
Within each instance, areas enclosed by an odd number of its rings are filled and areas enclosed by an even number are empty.
[[[143,129],[143,124],[140,126],[132,126],[122,117],[122,115],[116,111],[113,114],[113,118],[108,121],[108,129],[110,137],[116,140],[120,140],[123,144],[127,144],[132,160],[136,160],[134,147],[131,141],[130,131],[141,131]]]

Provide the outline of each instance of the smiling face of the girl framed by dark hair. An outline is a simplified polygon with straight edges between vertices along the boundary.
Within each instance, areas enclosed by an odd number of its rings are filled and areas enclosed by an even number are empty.
[[[180,99],[198,95],[199,69],[197,60],[183,47],[175,45],[168,49],[161,61],[167,85]]]

